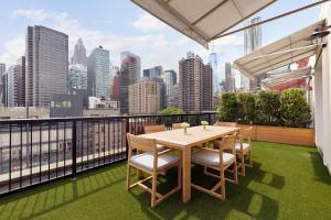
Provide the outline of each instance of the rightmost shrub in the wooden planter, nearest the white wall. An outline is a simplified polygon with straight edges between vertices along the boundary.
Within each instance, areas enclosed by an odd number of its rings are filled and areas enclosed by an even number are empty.
[[[311,122],[310,107],[302,89],[281,92],[281,123],[285,127],[307,127]]]

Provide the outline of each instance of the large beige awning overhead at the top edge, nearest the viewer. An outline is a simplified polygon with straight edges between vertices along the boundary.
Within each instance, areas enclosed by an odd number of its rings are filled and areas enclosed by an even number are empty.
[[[217,35],[276,0],[131,0],[168,25],[199,42]]]

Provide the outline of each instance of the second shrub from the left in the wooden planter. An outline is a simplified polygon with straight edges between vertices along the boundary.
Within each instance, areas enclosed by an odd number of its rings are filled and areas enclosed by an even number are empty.
[[[255,95],[242,92],[237,95],[238,101],[238,122],[252,124],[255,117]]]

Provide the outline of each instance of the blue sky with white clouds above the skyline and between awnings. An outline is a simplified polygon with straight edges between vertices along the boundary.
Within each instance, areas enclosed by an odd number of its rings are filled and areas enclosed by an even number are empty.
[[[316,2],[278,0],[255,15],[263,20]],[[25,51],[28,25],[45,25],[70,36],[70,57],[82,37],[87,55],[99,45],[110,51],[110,62],[119,66],[119,55],[130,51],[141,57],[141,68],[161,65],[178,70],[178,62],[192,51],[205,63],[211,51],[149,15],[129,0],[0,0],[0,63],[15,63]],[[264,24],[263,45],[298,31],[319,18],[320,7]],[[238,24],[236,28],[241,28]],[[224,63],[244,55],[243,33],[214,41],[210,48],[218,55],[218,72]]]

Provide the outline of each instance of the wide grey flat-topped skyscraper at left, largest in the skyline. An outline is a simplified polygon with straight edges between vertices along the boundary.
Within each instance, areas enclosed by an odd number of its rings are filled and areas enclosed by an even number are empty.
[[[45,26],[28,26],[26,101],[29,106],[49,106],[53,94],[67,87],[68,36]]]

